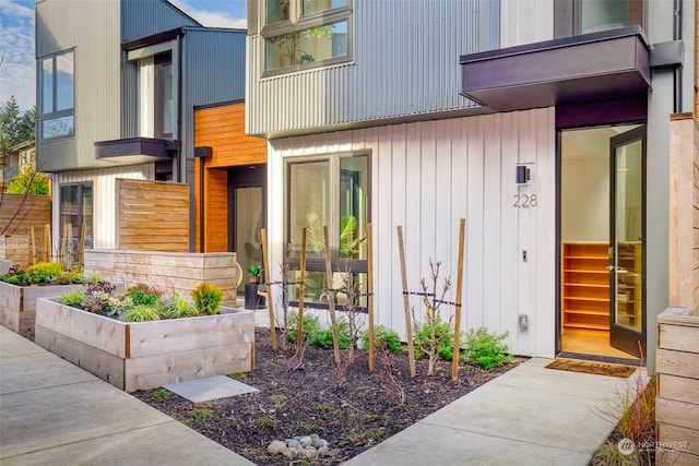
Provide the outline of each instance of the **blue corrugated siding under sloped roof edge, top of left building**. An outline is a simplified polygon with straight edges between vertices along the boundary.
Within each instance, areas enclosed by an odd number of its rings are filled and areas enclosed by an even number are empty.
[[[165,1],[123,1],[121,3],[121,39],[123,41],[181,26],[201,25]]]

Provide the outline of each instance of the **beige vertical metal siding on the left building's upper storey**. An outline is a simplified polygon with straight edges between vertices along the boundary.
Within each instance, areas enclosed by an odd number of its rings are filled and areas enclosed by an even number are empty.
[[[74,49],[75,138],[37,144],[45,171],[95,167],[95,141],[119,138],[119,2],[36,4],[37,57]]]

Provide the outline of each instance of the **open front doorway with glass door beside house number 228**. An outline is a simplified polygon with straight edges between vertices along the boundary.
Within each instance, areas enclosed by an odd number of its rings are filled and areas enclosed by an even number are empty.
[[[644,350],[644,142],[642,124],[560,132],[564,354],[632,359]]]

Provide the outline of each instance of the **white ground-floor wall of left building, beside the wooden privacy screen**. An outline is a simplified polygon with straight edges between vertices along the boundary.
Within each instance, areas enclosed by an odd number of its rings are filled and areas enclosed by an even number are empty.
[[[82,170],[55,174],[52,178],[54,202],[54,250],[60,248],[60,232],[62,231],[60,213],[60,186],[75,182],[92,182],[93,189],[93,248],[114,249],[116,219],[116,179],[128,178],[137,180],[155,179],[155,165],[133,165],[110,169]]]

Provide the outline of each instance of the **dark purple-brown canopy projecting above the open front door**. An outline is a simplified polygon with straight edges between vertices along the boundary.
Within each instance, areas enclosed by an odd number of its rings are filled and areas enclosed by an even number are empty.
[[[464,55],[461,94],[496,111],[635,96],[649,56],[639,26]]]

